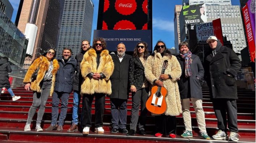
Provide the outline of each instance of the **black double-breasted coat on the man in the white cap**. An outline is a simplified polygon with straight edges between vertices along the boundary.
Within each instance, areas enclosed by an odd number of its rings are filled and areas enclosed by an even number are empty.
[[[205,79],[210,87],[212,98],[237,99],[235,75],[241,68],[241,61],[236,53],[218,41],[216,52],[212,50],[205,55]],[[229,75],[231,76],[229,76]]]

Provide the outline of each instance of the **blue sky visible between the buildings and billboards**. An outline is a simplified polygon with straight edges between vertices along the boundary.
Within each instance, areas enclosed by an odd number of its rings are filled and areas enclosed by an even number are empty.
[[[15,21],[20,0],[9,0],[13,6],[12,21]],[[97,17],[99,0],[92,0],[94,4],[93,28],[91,31],[91,41],[93,30],[97,29]],[[232,5],[240,5],[239,0],[231,0]],[[182,0],[152,0],[152,45],[158,40],[166,43],[167,48],[174,47],[174,8],[175,5],[182,5]],[[22,15],[21,15],[22,17]]]

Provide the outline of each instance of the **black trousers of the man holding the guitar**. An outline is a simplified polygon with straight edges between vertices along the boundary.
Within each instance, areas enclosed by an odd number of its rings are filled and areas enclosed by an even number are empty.
[[[155,129],[163,135],[176,134],[176,116],[155,116]]]

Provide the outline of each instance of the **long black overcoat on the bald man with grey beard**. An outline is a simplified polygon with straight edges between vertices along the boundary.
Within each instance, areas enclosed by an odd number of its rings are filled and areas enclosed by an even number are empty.
[[[129,83],[128,83],[128,71],[129,62],[132,56],[125,54],[120,62],[117,55],[111,55],[114,62],[114,72],[110,77],[112,93],[110,98],[128,99],[129,96]]]

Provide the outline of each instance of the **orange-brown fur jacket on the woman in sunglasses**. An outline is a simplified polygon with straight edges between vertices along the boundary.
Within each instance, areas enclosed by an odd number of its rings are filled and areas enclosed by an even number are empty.
[[[56,59],[52,61],[53,63],[53,69],[52,69],[52,86],[50,90],[50,97],[52,96],[52,93],[54,91],[54,84],[55,84],[55,76],[59,69],[59,63]],[[31,77],[33,73],[38,69],[37,78],[32,81]],[[30,83],[30,89],[32,91],[41,92],[41,87],[39,86],[40,82],[43,80],[44,75],[46,71],[49,68],[49,62],[45,56],[39,56],[37,59],[34,60],[34,62],[29,66],[29,69],[27,70],[27,73],[25,75],[25,78],[23,80],[23,83]]]

